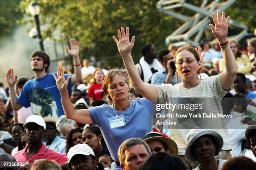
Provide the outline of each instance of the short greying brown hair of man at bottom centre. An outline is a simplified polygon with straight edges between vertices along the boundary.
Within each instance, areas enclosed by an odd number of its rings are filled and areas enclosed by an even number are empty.
[[[127,150],[128,148],[131,148],[134,145],[143,145],[146,148],[146,150],[148,151],[148,154],[151,155],[151,150],[150,150],[148,144],[144,140],[142,140],[140,138],[130,138],[130,139],[123,141],[123,143],[120,145],[120,147],[118,149],[118,158],[119,158],[120,164],[124,165],[125,150]]]

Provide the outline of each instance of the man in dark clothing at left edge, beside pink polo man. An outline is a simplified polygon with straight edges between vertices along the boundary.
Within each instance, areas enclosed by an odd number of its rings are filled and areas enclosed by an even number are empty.
[[[18,145],[18,138],[21,133],[24,132],[23,124],[16,123],[10,127],[12,138],[4,139],[0,141],[0,147],[5,150],[6,153],[11,154],[12,150]]]

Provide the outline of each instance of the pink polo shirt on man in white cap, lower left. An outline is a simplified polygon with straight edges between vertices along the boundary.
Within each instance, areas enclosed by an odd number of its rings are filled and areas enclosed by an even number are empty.
[[[36,163],[36,161],[38,160],[43,160],[43,159],[47,159],[47,160],[55,160],[58,164],[62,164],[62,163],[66,163],[67,162],[67,155],[55,152],[54,150],[51,150],[49,148],[47,148],[44,143],[42,143],[42,147],[40,148],[40,150],[38,151],[38,153],[36,153],[35,155],[33,155],[29,160],[26,154],[26,150],[28,148],[28,145],[26,146],[26,148],[24,148],[23,150],[18,151],[17,153],[15,153],[15,155],[13,155],[13,157],[15,158],[15,160],[18,162],[23,161],[23,162],[29,162],[30,165],[33,165],[34,163]]]

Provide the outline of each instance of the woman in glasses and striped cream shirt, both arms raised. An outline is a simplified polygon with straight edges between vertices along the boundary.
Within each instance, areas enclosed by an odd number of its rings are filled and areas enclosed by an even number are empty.
[[[143,82],[135,69],[131,55],[135,36],[132,37],[130,42],[129,28],[126,28],[126,33],[123,27],[121,30],[118,30],[119,40],[114,36],[113,40],[118,46],[118,50],[123,58],[124,65],[134,89],[155,104],[159,102],[159,99],[164,100],[163,102],[170,102],[170,98],[172,97],[223,97],[227,91],[230,90],[233,81],[235,80],[238,67],[227,40],[228,23],[230,18],[228,17],[225,22],[225,13],[222,13],[221,18],[220,11],[218,11],[217,18],[215,17],[215,14],[212,13],[212,19],[215,23],[215,27],[212,24],[209,24],[209,26],[212,30],[212,34],[217,38],[221,46],[226,69],[219,75],[209,77],[205,80],[200,80],[198,75],[200,74],[202,66],[202,61],[200,60],[201,48],[198,47],[198,49],[194,49],[187,46],[180,47],[175,55],[175,63],[176,72],[180,77],[182,77],[182,82],[175,85],[151,85]],[[220,106],[220,102],[218,103],[217,100],[215,100],[214,106],[216,109],[221,109],[221,107],[218,107]],[[224,145],[222,148],[224,151],[222,155],[223,157],[228,157],[230,156],[229,150],[231,150],[228,131],[225,128],[225,121],[219,121],[218,126],[215,126],[217,129],[215,131],[222,135],[224,139]],[[206,123],[211,124],[211,122]],[[221,130],[222,128],[223,130]],[[187,168],[190,168],[188,161],[186,161],[184,157],[186,149],[186,135],[188,131],[188,129],[176,128],[171,129],[171,134],[172,139],[178,145],[178,155],[180,155],[184,163],[187,164]],[[220,157],[219,159],[223,159],[223,157]]]

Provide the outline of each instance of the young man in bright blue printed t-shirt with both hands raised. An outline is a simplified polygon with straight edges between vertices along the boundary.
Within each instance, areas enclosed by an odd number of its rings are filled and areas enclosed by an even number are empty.
[[[64,75],[65,78],[72,76],[68,90],[71,90],[71,83],[82,80],[81,65],[79,61],[79,45],[72,38],[69,40],[70,48],[67,50],[74,58],[74,75]],[[50,65],[50,57],[44,51],[35,51],[31,55],[31,70],[34,72],[32,80],[28,80],[24,85],[19,97],[15,94],[14,85],[17,76],[13,74],[13,69],[9,69],[6,77],[10,91],[10,101],[13,110],[17,111],[22,106],[31,106],[33,114],[44,116],[59,117],[64,115],[61,105],[59,90],[53,73],[46,73]],[[54,73],[56,75],[56,73]]]

